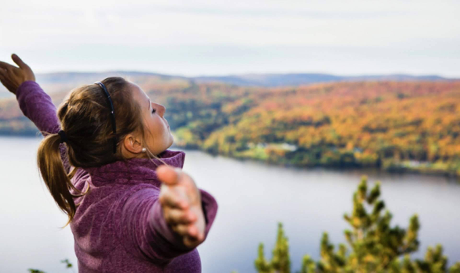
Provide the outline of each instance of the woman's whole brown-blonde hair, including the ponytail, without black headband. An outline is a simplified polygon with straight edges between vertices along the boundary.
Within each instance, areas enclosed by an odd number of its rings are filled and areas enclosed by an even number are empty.
[[[145,142],[145,126],[141,118],[140,106],[132,99],[128,81],[121,77],[105,78],[102,83],[107,87],[115,109],[116,134],[112,131],[110,110],[107,96],[97,84],[84,85],[73,89],[69,98],[57,109],[61,129],[65,131],[66,154],[70,165],[75,168],[66,172],[60,154],[61,137],[59,134],[42,132],[45,138],[40,142],[37,164],[57,206],[69,216],[69,224],[75,216],[74,197],[85,195],[76,189],[70,179],[79,167],[99,167],[111,162],[126,160],[121,156],[121,148],[113,152],[112,138],[117,144],[127,135],[140,131]],[[150,133],[150,132],[149,132]],[[152,162],[155,158],[163,164],[166,162],[154,155],[147,147],[147,156]],[[155,163],[155,162],[154,162]],[[156,163],[155,163],[156,164]],[[76,194],[72,194],[74,190]],[[66,225],[67,225],[66,224]]]

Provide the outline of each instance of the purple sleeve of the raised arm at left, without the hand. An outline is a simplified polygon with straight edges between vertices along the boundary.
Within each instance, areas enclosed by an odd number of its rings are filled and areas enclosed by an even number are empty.
[[[17,88],[16,98],[24,116],[29,118],[44,136],[55,134],[59,131],[61,125],[57,119],[56,106],[54,106],[50,96],[41,89],[39,84],[34,81],[23,82]],[[59,149],[64,169],[69,172],[70,164],[66,147],[61,144]]]

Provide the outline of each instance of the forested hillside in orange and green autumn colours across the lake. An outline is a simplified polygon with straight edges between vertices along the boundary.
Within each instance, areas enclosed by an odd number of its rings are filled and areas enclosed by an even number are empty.
[[[131,79],[167,107],[180,147],[304,167],[460,175],[459,81],[249,88]],[[2,100],[0,132],[36,130],[14,100]]]

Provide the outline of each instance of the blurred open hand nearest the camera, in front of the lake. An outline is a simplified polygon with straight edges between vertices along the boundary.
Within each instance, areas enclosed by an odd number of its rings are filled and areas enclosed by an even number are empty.
[[[162,182],[159,198],[166,222],[183,236],[185,246],[200,245],[204,241],[206,223],[195,182],[180,168],[166,165],[159,166],[156,174]]]

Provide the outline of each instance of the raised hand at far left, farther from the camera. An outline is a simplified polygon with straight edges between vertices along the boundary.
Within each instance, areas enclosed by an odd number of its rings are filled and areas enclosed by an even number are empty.
[[[6,89],[16,94],[16,90],[25,81],[35,81],[32,69],[25,64],[16,54],[11,55],[11,59],[19,66],[15,67],[4,61],[0,61],[0,82]]]

